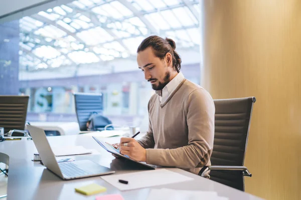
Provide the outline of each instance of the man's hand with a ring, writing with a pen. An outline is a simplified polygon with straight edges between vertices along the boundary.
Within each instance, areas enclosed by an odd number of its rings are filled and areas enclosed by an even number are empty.
[[[120,139],[119,151],[123,155],[138,161],[146,161],[146,150],[134,138],[122,137]]]

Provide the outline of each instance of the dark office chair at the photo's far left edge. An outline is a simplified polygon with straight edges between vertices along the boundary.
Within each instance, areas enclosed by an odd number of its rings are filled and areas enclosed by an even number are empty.
[[[29,96],[0,95],[0,127],[4,127],[4,133],[13,129],[24,131],[28,99]],[[13,136],[25,134],[15,131]]]

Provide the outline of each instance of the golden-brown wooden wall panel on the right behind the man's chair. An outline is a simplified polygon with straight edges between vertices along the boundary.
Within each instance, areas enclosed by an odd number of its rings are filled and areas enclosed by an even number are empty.
[[[201,0],[202,85],[255,96],[246,192],[301,199],[301,0]]]

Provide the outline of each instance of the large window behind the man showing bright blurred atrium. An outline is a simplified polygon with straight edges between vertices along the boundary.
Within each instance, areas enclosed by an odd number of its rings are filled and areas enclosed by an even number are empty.
[[[139,121],[154,90],[137,68],[138,45],[174,39],[184,75],[199,82],[199,12],[198,0],[75,0],[0,24],[0,85],[31,96],[28,120],[76,121],[73,92],[88,92],[103,94],[113,122]]]

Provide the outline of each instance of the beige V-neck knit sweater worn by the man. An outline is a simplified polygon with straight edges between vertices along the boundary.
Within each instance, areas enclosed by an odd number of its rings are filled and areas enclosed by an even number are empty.
[[[146,148],[146,163],[196,174],[211,164],[215,106],[204,88],[184,79],[164,104],[154,94],[148,113],[148,131],[138,140]]]

